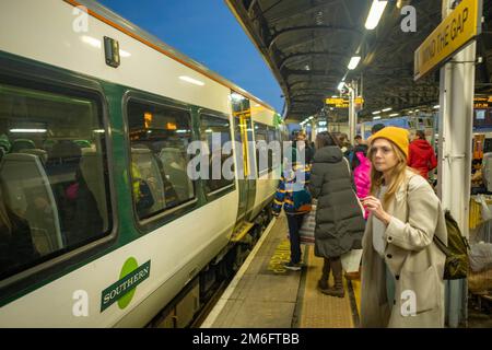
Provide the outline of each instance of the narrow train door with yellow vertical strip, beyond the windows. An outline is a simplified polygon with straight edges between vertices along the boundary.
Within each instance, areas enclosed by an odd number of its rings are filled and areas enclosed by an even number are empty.
[[[242,221],[249,220],[256,194],[251,109],[249,107],[248,98],[234,92],[231,96],[234,114],[235,141],[239,142],[242,145],[242,149],[236,151],[239,187],[237,221]]]

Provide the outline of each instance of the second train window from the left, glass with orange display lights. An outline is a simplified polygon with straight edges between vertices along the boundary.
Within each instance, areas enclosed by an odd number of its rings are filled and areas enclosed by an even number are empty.
[[[191,118],[187,110],[128,102],[132,195],[140,220],[195,198],[188,177]]]

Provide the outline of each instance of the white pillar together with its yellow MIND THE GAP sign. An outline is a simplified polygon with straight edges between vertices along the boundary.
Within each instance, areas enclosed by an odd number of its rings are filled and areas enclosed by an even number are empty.
[[[414,54],[414,80],[441,68],[437,195],[468,236],[471,186],[476,36],[481,33],[482,0],[442,0],[443,21]],[[446,284],[449,327],[467,313],[466,280]]]

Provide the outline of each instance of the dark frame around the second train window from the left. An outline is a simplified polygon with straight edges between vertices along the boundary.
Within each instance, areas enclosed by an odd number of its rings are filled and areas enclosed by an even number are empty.
[[[133,177],[130,171],[131,166],[131,141],[130,141],[130,130],[129,130],[129,115],[128,115],[128,104],[131,102],[138,102],[141,104],[150,104],[155,106],[161,106],[164,108],[178,109],[188,113],[189,115],[189,127],[191,130],[191,141],[197,139],[195,128],[194,128],[194,114],[190,105],[171,100],[168,97],[163,97],[161,95],[155,95],[149,92],[138,91],[129,89],[125,92],[122,97],[122,124],[124,124],[124,139],[125,139],[125,150],[126,150],[126,161],[127,168],[129,170],[129,184],[132,184]],[[133,217],[133,223],[137,231],[141,235],[151,233],[152,231],[189,213],[190,211],[199,207],[199,185],[197,180],[191,180],[194,184],[194,198],[179,203],[178,206],[161,210],[148,218],[140,219],[137,212],[137,207],[134,206],[134,198],[130,187],[130,200],[131,200],[131,211]]]

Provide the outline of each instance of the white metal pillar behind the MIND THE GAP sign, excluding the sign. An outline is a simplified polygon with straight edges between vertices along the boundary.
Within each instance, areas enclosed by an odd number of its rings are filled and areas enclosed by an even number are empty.
[[[443,0],[443,18],[452,12],[452,0]],[[465,47],[441,68],[437,195],[449,209],[465,236],[471,186],[476,43]],[[458,327],[466,318],[467,291],[461,280],[446,288],[447,323]],[[464,288],[465,284],[465,288]]]

